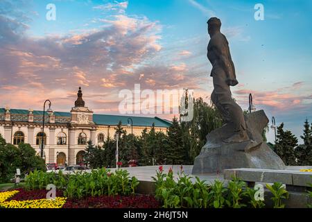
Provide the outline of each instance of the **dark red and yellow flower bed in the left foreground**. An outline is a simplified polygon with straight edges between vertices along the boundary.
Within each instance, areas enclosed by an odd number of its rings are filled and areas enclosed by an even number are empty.
[[[4,208],[158,208],[159,202],[153,196],[96,196],[82,199],[62,197],[56,192],[55,200],[46,199],[46,190],[27,191],[17,189],[0,192],[0,207]]]

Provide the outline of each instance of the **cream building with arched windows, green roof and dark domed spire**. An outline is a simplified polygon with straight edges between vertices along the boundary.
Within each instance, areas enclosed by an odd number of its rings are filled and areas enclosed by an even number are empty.
[[[87,141],[103,146],[105,139],[114,137],[119,121],[127,133],[133,131],[134,135],[140,135],[144,128],[150,129],[153,125],[156,131],[166,133],[171,126],[170,121],[158,117],[94,114],[85,106],[80,88],[77,95],[70,112],[47,110],[44,113],[44,133],[42,111],[0,108],[0,134],[6,142],[16,146],[20,142],[31,144],[37,153],[43,141],[46,163],[64,165],[83,162]]]

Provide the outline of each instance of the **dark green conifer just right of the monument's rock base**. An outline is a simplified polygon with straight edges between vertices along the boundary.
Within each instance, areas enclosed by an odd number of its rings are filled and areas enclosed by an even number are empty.
[[[277,142],[275,153],[281,157],[281,160],[288,166],[296,165],[295,147],[298,139],[290,130],[284,131],[284,123],[277,127]]]

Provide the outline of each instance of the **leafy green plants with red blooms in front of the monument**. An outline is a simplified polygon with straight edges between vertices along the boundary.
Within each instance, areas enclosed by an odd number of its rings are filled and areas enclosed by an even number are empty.
[[[219,180],[207,185],[205,180],[200,180],[198,177],[195,181],[192,179],[181,172],[175,180],[172,169],[164,173],[163,168],[159,167],[156,176],[153,177],[156,186],[155,198],[164,208],[241,208],[247,207],[248,203],[254,208],[265,206],[263,200],[255,199],[257,190],[248,188],[246,183],[238,178],[232,178],[227,187]],[[284,187],[279,183],[267,187],[273,194],[274,207],[285,207],[282,199],[288,198],[289,194]],[[309,195],[311,193],[309,192]]]

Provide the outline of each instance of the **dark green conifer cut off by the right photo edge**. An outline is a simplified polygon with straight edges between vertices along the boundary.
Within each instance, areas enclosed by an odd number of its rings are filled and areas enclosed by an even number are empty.
[[[311,166],[312,164],[312,125],[308,119],[304,122],[304,134],[301,138],[304,141],[304,144],[300,144],[295,149],[297,164],[300,166]]]

